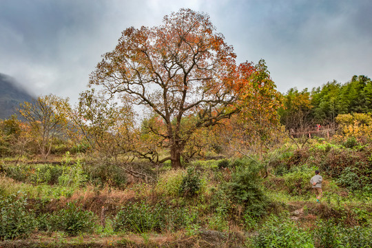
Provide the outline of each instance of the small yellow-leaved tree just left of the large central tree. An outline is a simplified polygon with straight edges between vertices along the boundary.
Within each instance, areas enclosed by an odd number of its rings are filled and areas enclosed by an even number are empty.
[[[105,99],[102,92],[87,90],[80,94],[79,105],[70,111],[71,136],[86,142],[101,158],[129,154],[135,146],[134,112],[129,105]]]

